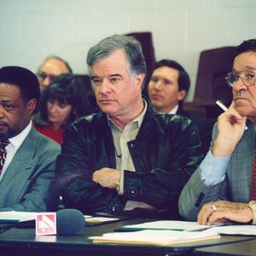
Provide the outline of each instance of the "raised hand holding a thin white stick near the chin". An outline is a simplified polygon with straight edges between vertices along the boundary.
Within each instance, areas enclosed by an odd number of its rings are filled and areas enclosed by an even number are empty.
[[[212,146],[213,156],[230,156],[246,129],[246,117],[241,117],[233,105],[218,116],[218,137]]]

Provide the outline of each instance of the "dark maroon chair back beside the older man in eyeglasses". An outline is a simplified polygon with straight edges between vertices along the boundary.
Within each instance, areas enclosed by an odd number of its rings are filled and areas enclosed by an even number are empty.
[[[217,119],[223,112],[216,101],[230,106],[232,90],[225,76],[232,70],[235,46],[203,50],[200,55],[193,102],[186,102],[184,110],[207,119]]]

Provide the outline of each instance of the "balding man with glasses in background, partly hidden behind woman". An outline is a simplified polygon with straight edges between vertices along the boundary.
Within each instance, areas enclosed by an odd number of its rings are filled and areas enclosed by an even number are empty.
[[[73,73],[67,61],[55,55],[47,57],[37,72],[40,90],[43,91],[55,77],[64,73]]]

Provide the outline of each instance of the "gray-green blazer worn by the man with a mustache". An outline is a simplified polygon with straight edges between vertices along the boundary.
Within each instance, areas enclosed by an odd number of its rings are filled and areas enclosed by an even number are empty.
[[[33,127],[0,183],[0,211],[44,212],[55,207],[52,181],[60,145]]]

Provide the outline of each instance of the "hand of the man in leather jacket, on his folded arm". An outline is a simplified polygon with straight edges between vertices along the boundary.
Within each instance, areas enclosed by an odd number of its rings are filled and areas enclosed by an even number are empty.
[[[121,172],[111,168],[102,168],[92,174],[92,180],[104,188],[116,189]]]

